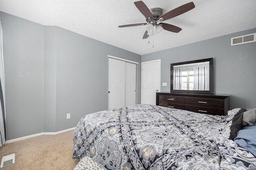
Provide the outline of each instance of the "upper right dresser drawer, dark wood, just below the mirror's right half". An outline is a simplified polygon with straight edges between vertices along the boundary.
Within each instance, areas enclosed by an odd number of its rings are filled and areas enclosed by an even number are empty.
[[[186,97],[186,104],[192,106],[212,107],[224,109],[223,99],[211,99],[211,98],[192,98]]]

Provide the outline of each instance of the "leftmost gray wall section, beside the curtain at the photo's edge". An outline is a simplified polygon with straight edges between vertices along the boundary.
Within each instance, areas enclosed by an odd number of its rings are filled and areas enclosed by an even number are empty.
[[[0,12],[6,86],[6,139],[43,130],[44,26]]]

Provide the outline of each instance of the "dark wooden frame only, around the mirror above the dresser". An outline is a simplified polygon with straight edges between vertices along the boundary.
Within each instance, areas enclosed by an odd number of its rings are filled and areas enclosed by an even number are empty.
[[[191,63],[201,63],[209,61],[209,90],[173,90],[173,66],[182,65],[182,64],[191,64]],[[200,93],[200,94],[213,94],[213,58],[209,59],[201,59],[201,60],[194,60],[194,61],[186,61],[181,63],[172,63],[171,64],[171,93]]]

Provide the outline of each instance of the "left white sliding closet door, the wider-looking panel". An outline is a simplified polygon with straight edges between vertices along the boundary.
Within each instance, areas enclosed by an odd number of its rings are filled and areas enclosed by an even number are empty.
[[[125,61],[108,58],[108,109],[124,107]]]

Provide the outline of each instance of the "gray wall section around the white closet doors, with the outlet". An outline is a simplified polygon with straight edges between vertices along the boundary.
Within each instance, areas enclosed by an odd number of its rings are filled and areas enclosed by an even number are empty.
[[[56,131],[74,127],[88,113],[108,109],[108,57],[140,63],[141,56],[57,27]],[[137,82],[140,83],[140,64]],[[137,86],[140,103],[140,86]],[[66,119],[71,113],[71,119]]]

